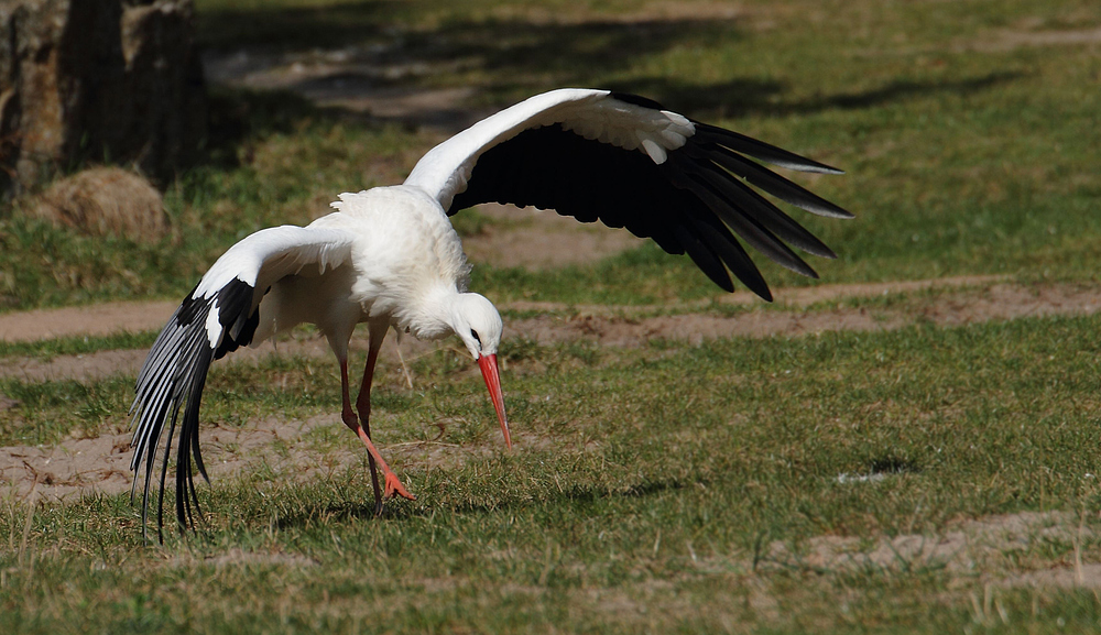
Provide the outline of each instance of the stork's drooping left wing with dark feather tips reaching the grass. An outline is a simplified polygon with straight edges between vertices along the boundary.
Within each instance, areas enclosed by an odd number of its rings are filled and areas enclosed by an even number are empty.
[[[135,424],[130,462],[134,482],[130,495],[133,497],[137,492],[140,468],[144,467],[143,534],[165,421],[168,434],[161,463],[157,535],[163,525],[164,479],[177,420],[176,517],[181,528],[192,523],[192,503],[196,514],[199,512],[190,457],[209,481],[199,452],[198,424],[210,362],[252,341],[260,318],[260,300],[274,282],[307,266],[317,266],[321,272],[340,266],[351,253],[352,240],[352,234],[336,229],[284,226],[258,231],[229,248],[172,314],[138,374],[137,396],[130,406]],[[179,420],[184,402],[187,407]]]

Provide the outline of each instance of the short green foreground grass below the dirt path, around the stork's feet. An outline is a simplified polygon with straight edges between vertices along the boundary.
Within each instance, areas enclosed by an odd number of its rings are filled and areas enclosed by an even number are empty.
[[[1066,565],[1076,546],[1007,545],[974,574],[935,561],[902,570],[796,561],[754,571],[754,557],[774,540],[798,549],[822,535],[936,535],[961,518],[1095,510],[1101,488],[1089,474],[1101,464],[1083,449],[1101,444],[1099,327],[1097,317],[1021,319],[621,350],[517,342],[502,354],[514,430],[525,441],[490,456],[470,452],[499,444],[477,377],[424,360],[416,370],[435,373],[423,377],[430,388],[380,391],[383,442],[416,438],[445,415],[472,424],[447,428],[456,461],[425,463],[413,453],[395,466],[415,503],[393,503],[372,519],[363,466],[302,480],[273,462],[203,488],[208,524],[184,540],[170,533],[156,548],[141,545],[124,495],[40,506],[29,525],[25,504],[9,500],[0,516],[9,543],[0,554],[0,625],[963,628],[977,618],[970,594]],[[334,412],[339,427],[334,376],[323,372],[331,369],[270,363],[212,375],[206,417],[232,425],[232,412],[283,412],[290,398],[288,417],[305,401]],[[274,397],[266,387],[274,372],[302,390]],[[309,387],[315,382],[329,390]],[[77,408],[96,403],[69,399]],[[105,413],[103,425],[112,417]],[[875,471],[885,479],[837,482]],[[1101,556],[1093,533],[1101,527],[1090,514],[1084,523],[1077,548],[1090,561]],[[254,560],[207,560],[235,549]],[[993,593],[1023,632],[1099,616],[1090,593]],[[762,602],[778,616],[762,613]],[[989,617],[979,624],[1004,627]]]

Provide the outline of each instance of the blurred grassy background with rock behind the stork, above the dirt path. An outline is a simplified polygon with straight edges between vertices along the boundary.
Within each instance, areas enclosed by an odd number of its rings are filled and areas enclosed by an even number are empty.
[[[177,297],[237,239],[397,183],[564,86],[846,169],[796,177],[858,215],[795,214],[841,255],[813,263],[829,282],[1094,275],[1088,0],[15,0],[0,19],[0,310]],[[476,284],[497,300],[716,293],[648,242],[554,220],[460,215]]]

